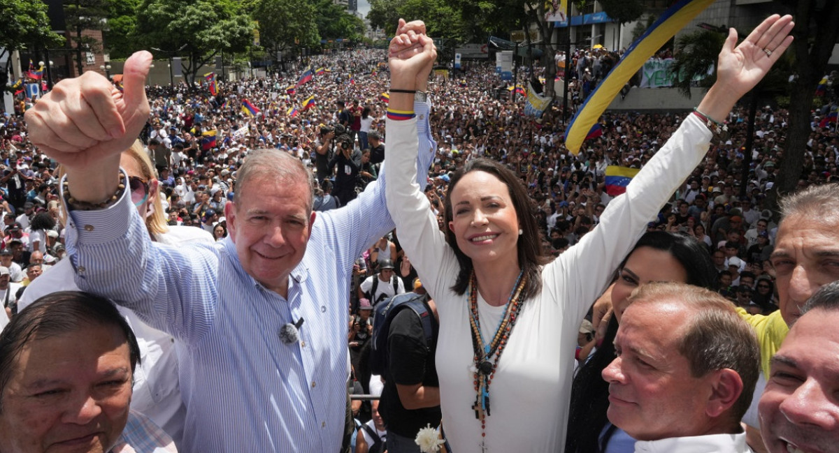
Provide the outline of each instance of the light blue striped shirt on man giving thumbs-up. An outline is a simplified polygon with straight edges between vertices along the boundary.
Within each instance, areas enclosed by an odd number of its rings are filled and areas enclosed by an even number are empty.
[[[436,144],[429,105],[416,104],[428,143]],[[347,301],[352,264],[394,228],[382,176],[346,208],[317,213],[288,300],[248,275],[228,238],[172,247],[149,240],[122,198],[99,211],[70,211],[67,252],[76,283],[110,297],[149,325],[178,338],[186,405],[181,450],[336,452],[347,403]],[[425,183],[425,175],[420,178]],[[395,182],[401,183],[401,182]],[[126,184],[128,186],[128,184]],[[300,318],[301,341],[284,344],[280,327]]]

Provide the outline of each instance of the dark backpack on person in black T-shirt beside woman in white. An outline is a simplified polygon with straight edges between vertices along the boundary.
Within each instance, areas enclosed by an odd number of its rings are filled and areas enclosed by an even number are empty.
[[[406,292],[393,296],[389,301],[378,304],[373,309],[373,341],[370,342],[370,371],[373,374],[386,376],[390,366],[390,353],[388,352],[388,334],[390,323],[396,314],[403,309],[413,310],[422,322],[422,330],[425,332],[425,344],[431,345],[435,339],[434,326],[431,322],[431,313],[425,306],[428,295],[421,295],[415,292]]]

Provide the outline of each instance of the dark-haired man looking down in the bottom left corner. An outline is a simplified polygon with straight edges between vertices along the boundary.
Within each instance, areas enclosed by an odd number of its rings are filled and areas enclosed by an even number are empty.
[[[41,297],[0,333],[0,451],[176,452],[128,409],[139,347],[107,299]]]

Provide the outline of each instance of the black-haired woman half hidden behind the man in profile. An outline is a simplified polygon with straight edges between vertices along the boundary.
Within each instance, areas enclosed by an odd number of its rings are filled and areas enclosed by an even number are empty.
[[[633,453],[635,440],[609,423],[609,384],[601,373],[615,358],[615,335],[628,297],[638,286],[651,281],[674,281],[716,291],[717,270],[703,243],[685,234],[651,231],[641,236],[635,248],[618,266],[611,289],[611,319],[605,334],[595,337],[597,350],[582,363],[571,386],[571,411],[565,431],[565,453]],[[666,322],[666,320],[663,320]]]

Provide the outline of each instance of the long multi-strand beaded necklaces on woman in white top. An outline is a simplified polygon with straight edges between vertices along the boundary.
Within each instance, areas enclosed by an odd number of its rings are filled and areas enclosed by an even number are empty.
[[[516,280],[513,291],[510,291],[510,298],[505,305],[504,316],[498,322],[498,328],[492,337],[492,342],[486,343],[483,340],[481,322],[478,319],[477,279],[474,271],[472,271],[472,276],[469,278],[469,324],[472,327],[472,349],[475,360],[473,384],[477,394],[472,409],[475,410],[475,418],[481,420],[482,449],[485,448],[483,440],[487,437],[487,417],[490,415],[489,384],[492,384],[492,378],[495,376],[495,369],[498,366],[498,359],[501,358],[501,353],[503,353],[504,347],[507,345],[510,333],[513,332],[516,315],[519,314],[519,308],[521,307],[519,296],[521,296],[522,289],[526,284],[527,278],[524,277],[524,270],[522,270],[519,272],[519,279]]]

